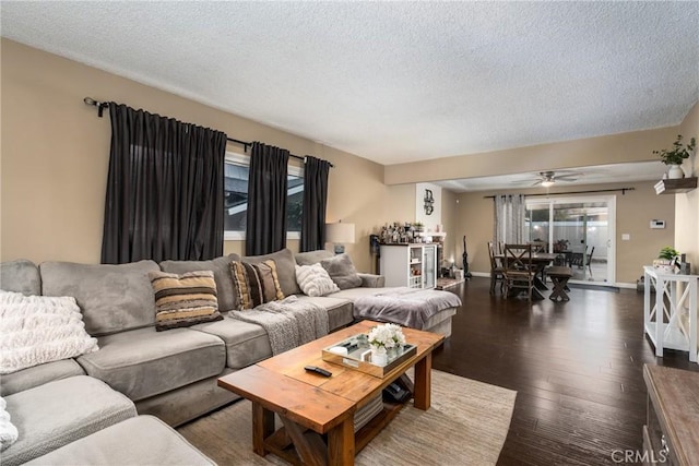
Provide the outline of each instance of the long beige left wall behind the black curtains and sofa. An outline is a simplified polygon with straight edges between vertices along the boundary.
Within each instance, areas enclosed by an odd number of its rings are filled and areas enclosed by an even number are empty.
[[[356,225],[347,252],[369,270],[368,235],[387,218],[381,165],[7,39],[1,64],[0,260],[99,262],[111,131],[90,96],[330,160],[328,219]]]

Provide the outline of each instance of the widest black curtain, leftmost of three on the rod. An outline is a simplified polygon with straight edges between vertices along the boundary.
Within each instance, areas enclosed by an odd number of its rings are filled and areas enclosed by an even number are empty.
[[[226,134],[115,103],[102,262],[223,254]]]

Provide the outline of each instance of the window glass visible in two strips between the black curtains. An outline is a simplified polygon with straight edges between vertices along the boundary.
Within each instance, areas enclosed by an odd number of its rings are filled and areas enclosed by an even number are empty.
[[[250,158],[240,154],[226,153],[224,239],[245,239],[248,214],[248,171]],[[301,211],[304,205],[304,170],[288,166],[288,191],[286,193],[286,238],[299,239]]]

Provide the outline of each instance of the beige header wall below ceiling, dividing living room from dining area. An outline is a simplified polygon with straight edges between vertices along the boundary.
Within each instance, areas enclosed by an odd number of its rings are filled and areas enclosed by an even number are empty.
[[[460,155],[386,167],[384,182],[400,184],[590,165],[656,160],[653,150],[673,141],[677,127],[635,131],[530,147]],[[497,163],[493,163],[497,160]]]

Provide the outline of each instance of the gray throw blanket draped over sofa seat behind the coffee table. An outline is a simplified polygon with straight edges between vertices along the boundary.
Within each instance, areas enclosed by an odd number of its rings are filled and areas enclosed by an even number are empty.
[[[264,328],[270,337],[272,355],[312,342],[328,335],[329,331],[328,311],[293,295],[254,309],[230,311],[228,315]]]

